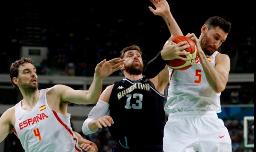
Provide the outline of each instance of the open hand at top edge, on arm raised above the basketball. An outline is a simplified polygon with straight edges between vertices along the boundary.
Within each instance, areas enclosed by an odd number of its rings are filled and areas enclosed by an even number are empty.
[[[156,7],[156,10],[154,10],[152,7],[149,7],[150,11],[154,15],[163,16],[164,14],[170,11],[169,4],[166,0],[150,0],[150,1]]]

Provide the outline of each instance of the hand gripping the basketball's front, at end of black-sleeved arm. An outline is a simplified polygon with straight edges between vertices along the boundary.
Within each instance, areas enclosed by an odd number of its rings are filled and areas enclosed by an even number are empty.
[[[180,55],[189,55],[185,49],[189,48],[189,45],[184,45],[187,42],[180,42],[175,44],[169,38],[168,42],[164,44],[163,50],[161,51],[161,56],[163,60],[173,60],[173,59],[180,59],[183,61],[187,61],[187,58],[183,58]]]

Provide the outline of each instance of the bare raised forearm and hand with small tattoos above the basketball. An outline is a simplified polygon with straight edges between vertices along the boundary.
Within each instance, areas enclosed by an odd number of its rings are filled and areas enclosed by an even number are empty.
[[[168,2],[166,0],[150,0],[150,1],[156,7],[156,10],[154,10],[152,7],[149,7],[150,11],[154,15],[159,15],[163,17],[171,33],[171,36],[178,36],[178,35],[183,36],[183,33],[180,27],[178,26],[176,20],[173,18],[173,15],[171,14]]]

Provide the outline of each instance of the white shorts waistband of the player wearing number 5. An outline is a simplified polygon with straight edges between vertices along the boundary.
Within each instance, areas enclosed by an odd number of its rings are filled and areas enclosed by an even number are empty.
[[[215,111],[178,111],[170,113],[168,118],[218,118]]]

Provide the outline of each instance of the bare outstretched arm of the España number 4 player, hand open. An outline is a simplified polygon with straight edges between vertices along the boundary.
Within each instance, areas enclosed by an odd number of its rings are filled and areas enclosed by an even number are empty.
[[[66,85],[55,85],[52,89],[61,98],[62,102],[69,101],[75,104],[93,104],[99,99],[102,91],[102,80],[111,73],[120,69],[124,59],[114,58],[103,60],[95,68],[92,85],[88,91],[74,90]]]

